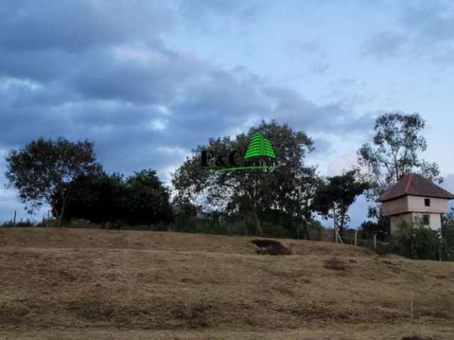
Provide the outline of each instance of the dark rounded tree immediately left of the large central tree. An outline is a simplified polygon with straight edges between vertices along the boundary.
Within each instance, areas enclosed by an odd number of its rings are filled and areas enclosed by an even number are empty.
[[[155,170],[136,172],[126,180],[126,220],[138,225],[172,222],[167,188]]]

